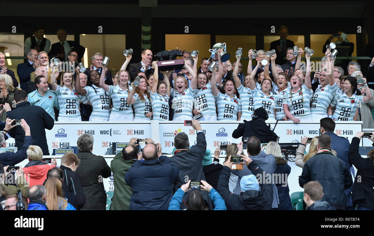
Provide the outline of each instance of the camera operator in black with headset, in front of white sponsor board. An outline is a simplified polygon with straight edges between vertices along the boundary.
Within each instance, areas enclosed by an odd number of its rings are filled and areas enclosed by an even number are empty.
[[[252,120],[245,121],[244,124],[239,124],[237,129],[233,131],[233,138],[252,137],[255,136],[260,139],[260,143],[269,143],[270,141],[277,141],[278,136],[270,130],[270,127],[265,123],[268,115],[264,108],[257,108],[253,112]]]

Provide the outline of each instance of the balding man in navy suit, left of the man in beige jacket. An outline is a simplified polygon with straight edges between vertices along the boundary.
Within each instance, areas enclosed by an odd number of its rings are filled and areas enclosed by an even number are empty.
[[[21,84],[21,89],[25,90],[26,84],[30,81],[30,74],[35,71],[35,69],[40,65],[38,61],[38,51],[35,49],[30,49],[27,51],[27,61],[24,63],[19,63],[17,66],[17,74],[19,78],[19,83]]]

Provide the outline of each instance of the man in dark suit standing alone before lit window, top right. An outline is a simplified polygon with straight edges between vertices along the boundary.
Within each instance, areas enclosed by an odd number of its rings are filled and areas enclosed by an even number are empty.
[[[270,43],[270,50],[274,49],[277,53],[275,63],[279,65],[287,62],[285,59],[283,59],[286,56],[286,49],[295,46],[295,43],[293,41],[286,39],[287,35],[288,27],[286,27],[285,25],[281,25],[279,27],[279,40],[275,40]]]

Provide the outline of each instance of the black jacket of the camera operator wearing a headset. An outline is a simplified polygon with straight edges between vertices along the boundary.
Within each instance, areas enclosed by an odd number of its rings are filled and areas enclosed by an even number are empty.
[[[240,137],[256,136],[260,139],[261,143],[269,143],[276,141],[277,135],[270,130],[269,126],[262,119],[247,121],[244,124],[239,124],[232,134],[234,139]]]

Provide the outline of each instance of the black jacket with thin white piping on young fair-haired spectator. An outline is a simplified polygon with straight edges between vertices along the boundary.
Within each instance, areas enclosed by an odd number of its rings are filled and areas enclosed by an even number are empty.
[[[79,174],[72,171],[69,167],[64,165],[60,166],[60,169],[64,171],[64,183],[62,183],[62,189],[75,196],[77,210],[81,209],[86,202],[86,196],[83,192],[82,183],[80,181]],[[70,203],[71,204],[71,203]]]

